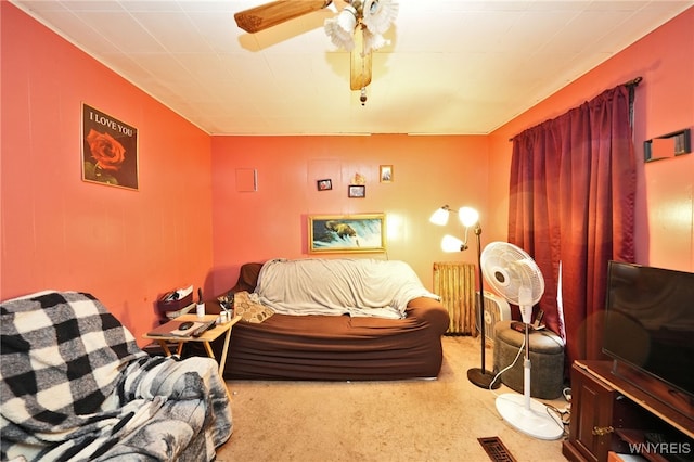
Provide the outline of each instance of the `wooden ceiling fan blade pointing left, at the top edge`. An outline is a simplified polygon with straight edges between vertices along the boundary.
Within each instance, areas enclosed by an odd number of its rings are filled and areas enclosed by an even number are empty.
[[[255,34],[285,21],[329,7],[332,0],[278,0],[234,14],[236,25]]]

